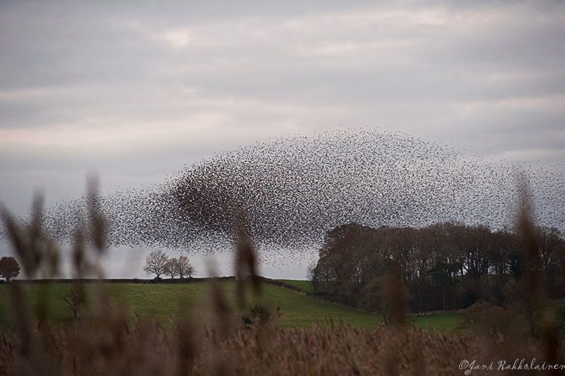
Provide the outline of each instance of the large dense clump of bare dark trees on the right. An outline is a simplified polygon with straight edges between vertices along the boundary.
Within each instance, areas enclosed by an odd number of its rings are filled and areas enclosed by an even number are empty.
[[[564,238],[547,228],[537,228],[537,236],[547,293],[564,296]],[[465,308],[480,298],[501,304],[507,285],[521,279],[521,246],[515,233],[484,226],[345,224],[326,234],[311,280],[326,298],[382,311],[383,277],[397,267],[414,312]]]

